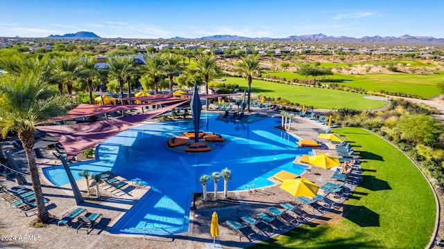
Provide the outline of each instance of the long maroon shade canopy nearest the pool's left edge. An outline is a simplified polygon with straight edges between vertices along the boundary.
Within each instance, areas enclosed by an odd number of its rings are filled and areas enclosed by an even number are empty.
[[[37,126],[36,128],[56,138],[63,147],[65,147],[68,157],[72,158],[89,147],[97,145],[122,131],[135,127],[140,122],[155,118],[187,102],[189,102],[189,100],[183,101],[182,99],[182,101],[171,104],[168,107],[162,107],[146,113],[123,118],[72,125]],[[160,102],[157,104],[160,104]]]

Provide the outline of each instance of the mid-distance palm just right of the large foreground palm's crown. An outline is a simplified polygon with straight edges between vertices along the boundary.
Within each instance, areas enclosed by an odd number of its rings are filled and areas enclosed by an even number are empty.
[[[53,73],[58,75],[61,80],[58,83],[58,91],[60,95],[63,95],[62,82],[65,82],[68,94],[72,95],[72,84],[78,79],[78,77],[80,77],[82,69],[79,57],[57,57],[54,60]]]

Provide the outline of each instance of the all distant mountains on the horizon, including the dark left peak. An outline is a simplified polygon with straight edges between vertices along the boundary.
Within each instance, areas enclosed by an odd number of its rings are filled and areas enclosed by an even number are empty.
[[[99,35],[92,32],[80,31],[75,34],[65,34],[65,35],[49,35],[47,38],[60,38],[60,39],[99,39]],[[183,37],[172,37],[171,39],[190,39]],[[345,43],[345,44],[436,44],[444,45],[443,38],[434,38],[427,36],[411,36],[402,35],[400,37],[380,37],[379,35],[368,37],[364,36],[361,38],[355,37],[334,37],[327,36],[324,34],[314,34],[314,35],[291,35],[284,38],[271,38],[271,37],[241,37],[238,35],[212,35],[207,37],[194,38],[194,40],[218,40],[218,41],[282,41],[282,42],[334,42],[334,43]]]

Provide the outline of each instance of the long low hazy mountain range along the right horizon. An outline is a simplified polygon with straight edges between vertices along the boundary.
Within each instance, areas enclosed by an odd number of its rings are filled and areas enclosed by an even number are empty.
[[[178,37],[175,37],[178,39]],[[443,38],[434,38],[434,37],[422,37],[422,36],[411,36],[411,35],[402,35],[400,37],[380,37],[379,35],[375,35],[374,37],[364,36],[361,38],[355,37],[334,37],[327,36],[324,34],[314,34],[314,35],[291,35],[285,38],[269,38],[269,37],[261,37],[261,38],[250,38],[250,37],[241,37],[237,35],[212,35],[207,37],[200,37],[196,39],[201,40],[226,40],[226,41],[266,41],[266,40],[274,40],[274,41],[293,41],[293,42],[335,42],[335,43],[349,43],[349,44],[438,44],[444,45]]]

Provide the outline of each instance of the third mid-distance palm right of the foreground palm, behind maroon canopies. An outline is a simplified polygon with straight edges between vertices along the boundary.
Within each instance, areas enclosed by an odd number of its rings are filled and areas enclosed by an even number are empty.
[[[120,96],[123,98],[123,86],[126,76],[133,71],[133,58],[126,56],[108,57],[108,64],[110,65],[110,77],[119,82]]]

